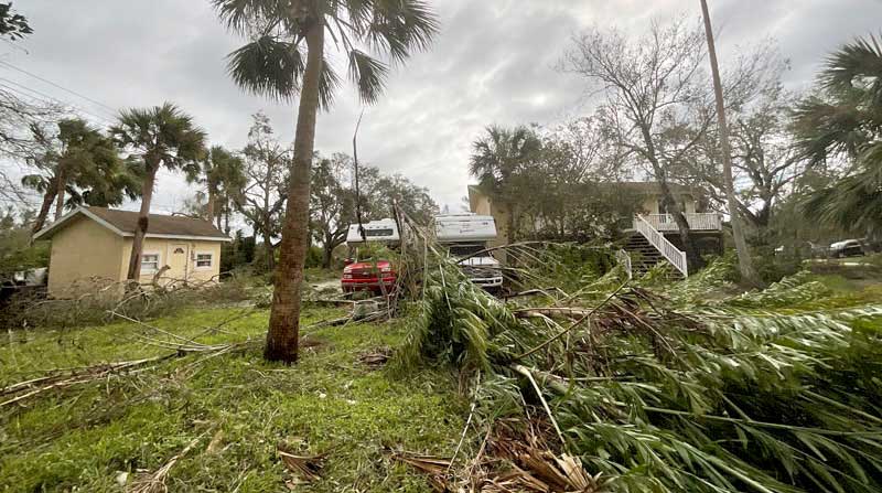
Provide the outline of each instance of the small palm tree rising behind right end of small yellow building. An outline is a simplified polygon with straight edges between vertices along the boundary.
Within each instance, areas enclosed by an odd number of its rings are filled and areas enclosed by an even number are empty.
[[[225,211],[228,217],[230,196],[245,186],[241,158],[220,146],[214,146],[205,159],[187,167],[184,171],[187,183],[205,186],[205,218],[216,222],[217,228],[222,229],[220,218]]]

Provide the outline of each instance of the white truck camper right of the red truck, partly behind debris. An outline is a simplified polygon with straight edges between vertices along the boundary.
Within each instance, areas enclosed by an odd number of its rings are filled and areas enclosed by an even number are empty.
[[[435,238],[445,245],[451,255],[466,257],[460,265],[477,286],[495,291],[503,287],[503,271],[499,261],[488,253],[487,242],[496,239],[496,222],[493,216],[474,213],[444,214],[434,218]]]

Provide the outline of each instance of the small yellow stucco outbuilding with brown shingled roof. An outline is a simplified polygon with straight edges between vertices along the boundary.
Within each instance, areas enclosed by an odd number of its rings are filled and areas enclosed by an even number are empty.
[[[137,212],[77,207],[37,232],[35,240],[52,240],[50,296],[75,297],[123,281],[137,225]],[[153,282],[157,274],[163,286],[216,282],[224,242],[229,238],[207,221],[150,214],[140,282]]]

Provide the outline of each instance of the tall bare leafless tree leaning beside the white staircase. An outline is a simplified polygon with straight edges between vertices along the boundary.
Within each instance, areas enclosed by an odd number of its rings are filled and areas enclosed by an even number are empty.
[[[621,158],[644,168],[659,183],[690,270],[703,261],[670,184],[714,122],[713,92],[701,69],[704,54],[701,26],[679,18],[665,25],[653,22],[642,37],[593,28],[573,39],[560,63],[562,71],[584,77],[592,94],[602,97],[596,118],[621,148]],[[751,74],[763,69],[763,63],[765,58],[755,54],[733,60],[722,77],[727,105],[736,106],[757,90]]]

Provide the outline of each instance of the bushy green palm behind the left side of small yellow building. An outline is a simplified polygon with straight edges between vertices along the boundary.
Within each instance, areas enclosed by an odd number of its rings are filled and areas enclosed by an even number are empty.
[[[114,141],[85,120],[61,120],[54,133],[35,126],[33,132],[44,150],[31,159],[37,172],[22,178],[22,184],[43,194],[34,233],[45,225],[53,202],[55,221],[61,218],[68,196],[69,205],[103,206],[138,196],[137,176],[123,165]]]

